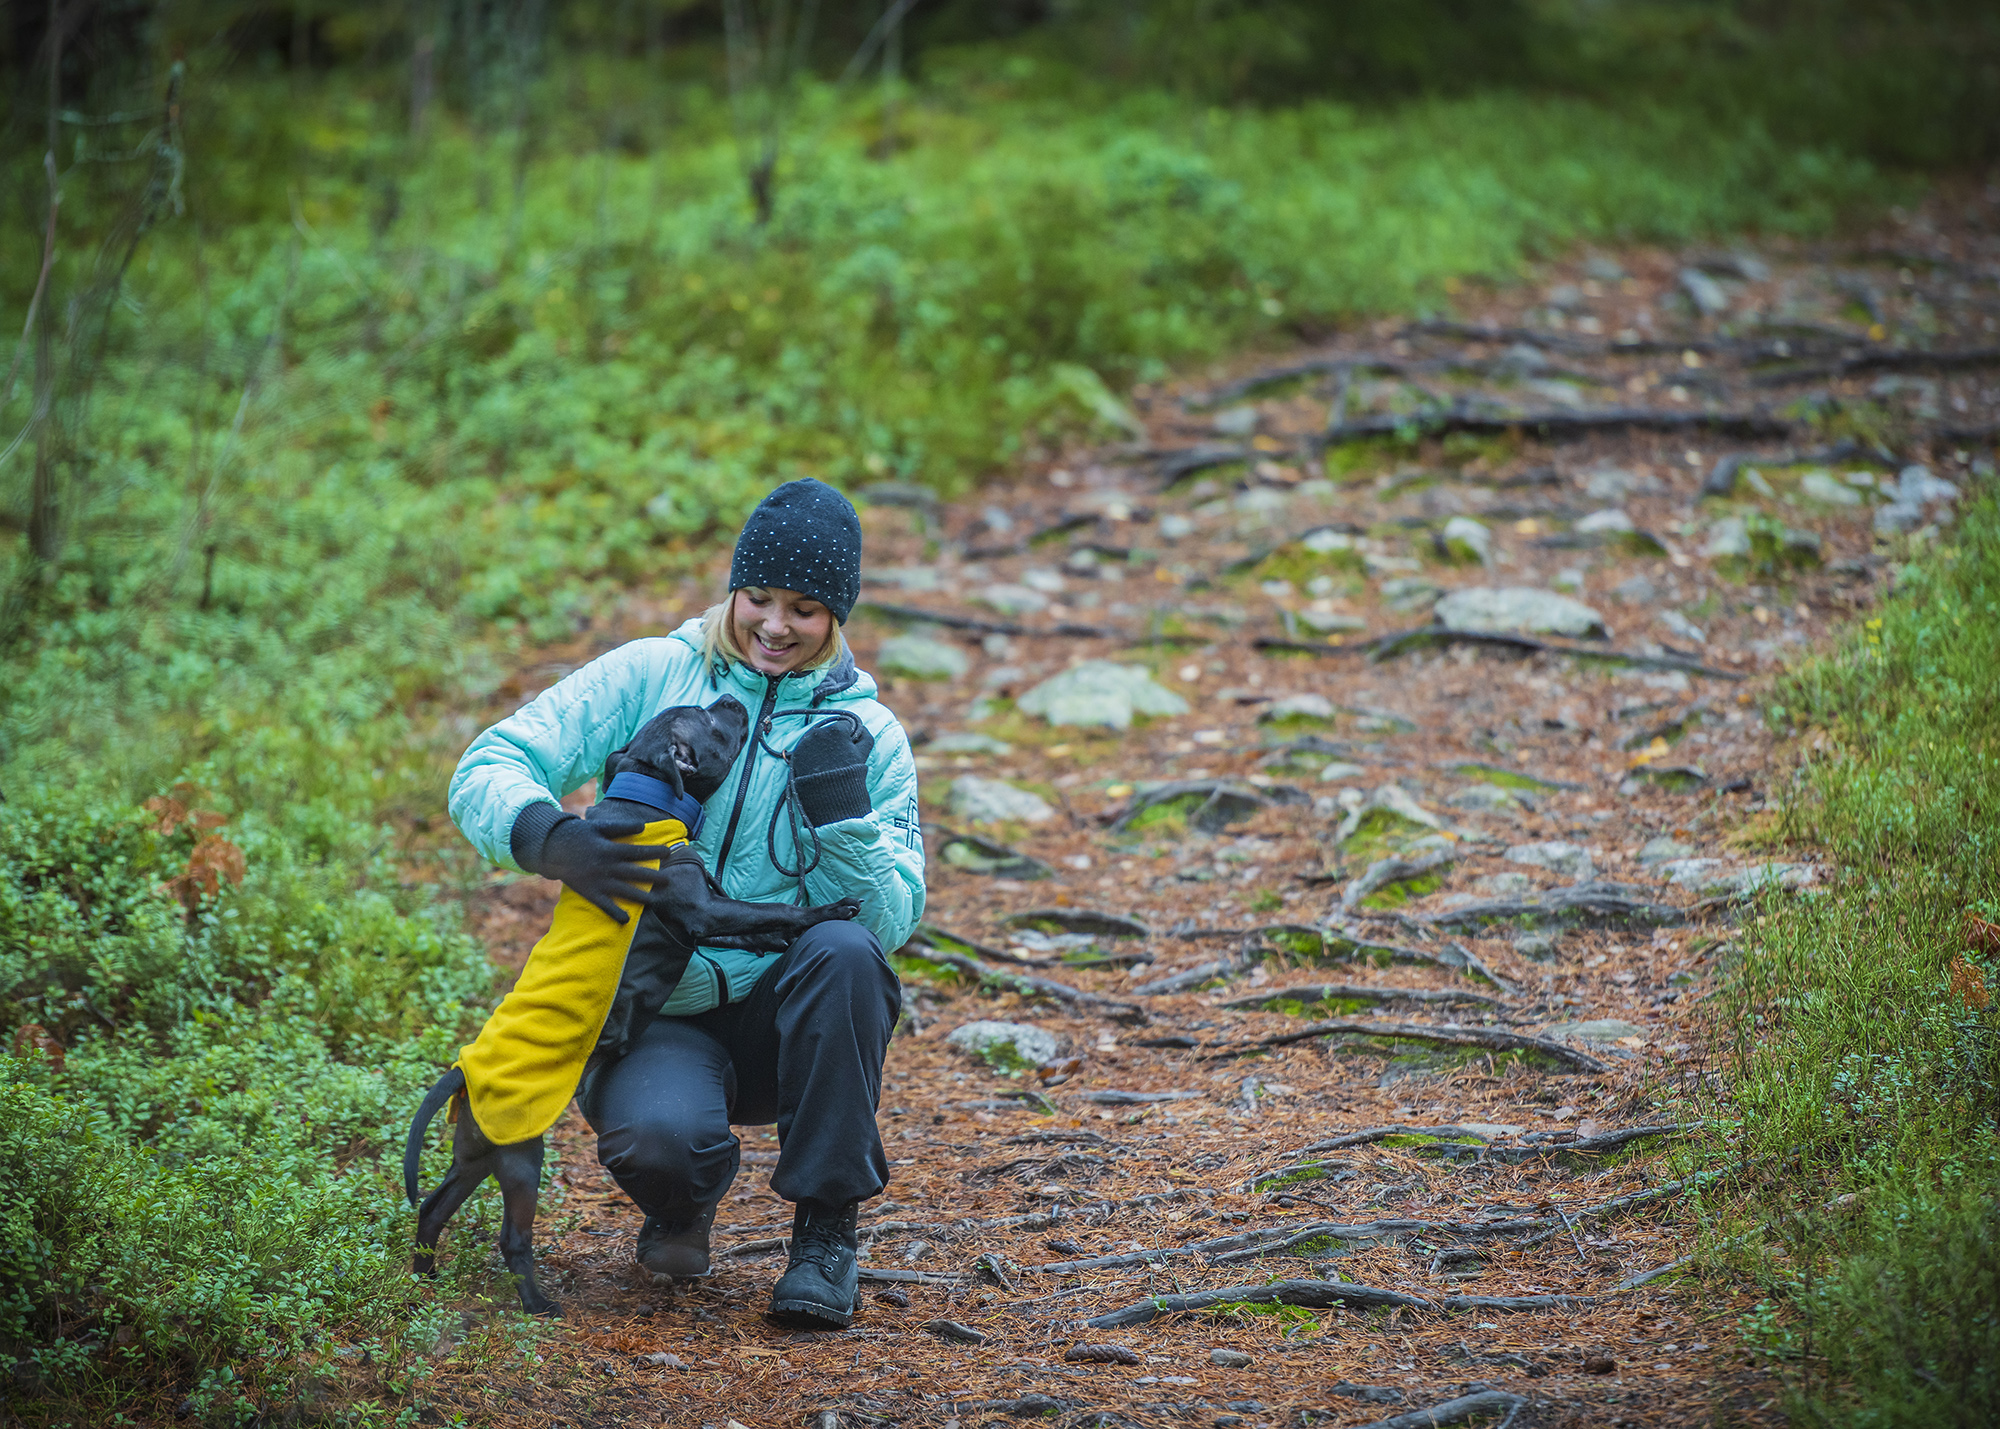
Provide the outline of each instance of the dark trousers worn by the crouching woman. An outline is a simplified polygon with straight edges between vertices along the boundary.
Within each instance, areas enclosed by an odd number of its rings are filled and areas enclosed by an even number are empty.
[[[598,1161],[640,1211],[684,1219],[736,1179],[730,1125],[778,1125],[772,1189],[842,1205],[880,1195],[882,1059],[902,987],[860,923],[806,931],[742,1003],[662,1017],[582,1091]]]

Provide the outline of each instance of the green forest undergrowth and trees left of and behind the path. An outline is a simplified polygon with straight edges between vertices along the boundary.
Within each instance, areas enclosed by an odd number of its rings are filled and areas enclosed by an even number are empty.
[[[0,72],[0,1345],[216,1421],[456,1317],[378,1151],[522,650],[776,480],[2000,154],[1976,0],[14,0]]]

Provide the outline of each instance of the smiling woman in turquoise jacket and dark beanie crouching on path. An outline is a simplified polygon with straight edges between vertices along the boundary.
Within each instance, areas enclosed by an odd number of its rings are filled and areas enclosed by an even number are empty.
[[[582,666],[472,741],[452,819],[498,865],[560,879],[624,921],[654,871],[618,843],[638,827],[568,815],[558,797],[668,704],[734,694],[750,743],[710,797],[694,847],[724,893],[754,903],[858,897],[782,955],[704,947],[660,1019],[578,1093],[598,1159],[646,1213],[638,1263],[706,1275],[716,1203],[736,1177],[730,1125],[776,1123],[772,1189],[794,1201],[772,1313],[846,1325],[856,1207],[888,1183],[876,1133],[882,1059],[902,991],[884,949],[924,915],[916,767],[842,622],[860,594],[862,532],[832,486],[794,480],[736,540],[730,594],[668,636]]]

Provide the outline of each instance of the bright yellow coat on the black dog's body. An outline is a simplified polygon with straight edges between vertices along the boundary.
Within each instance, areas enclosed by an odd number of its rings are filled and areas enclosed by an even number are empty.
[[[682,847],[688,825],[658,819],[620,843]],[[692,851],[690,851],[692,853]],[[658,859],[642,859],[658,869]],[[556,899],[548,933],[520,971],[486,1027],[458,1053],[466,1073],[472,1121],[488,1141],[532,1141],[556,1125],[576,1095],[584,1065],[598,1045],[644,905],[618,901],[626,921],[614,923],[574,889]]]

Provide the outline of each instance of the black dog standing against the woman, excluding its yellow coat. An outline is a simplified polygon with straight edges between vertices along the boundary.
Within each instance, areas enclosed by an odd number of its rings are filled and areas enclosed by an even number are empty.
[[[648,721],[630,745],[616,751],[604,767],[602,789],[618,797],[600,799],[586,819],[658,821],[680,817],[692,839],[700,829],[700,801],[722,787],[730,765],[744,747],[750,717],[742,704],[724,696],[710,708],[676,704]],[[640,779],[618,779],[638,775]],[[616,785],[616,787],[614,787]],[[636,793],[642,801],[622,795]],[[668,875],[656,885],[654,903],[638,919],[618,991],[598,1035],[584,1073],[622,1057],[632,1041],[660,1015],[660,1007],[678,987],[688,959],[700,945],[736,947],[752,953],[782,953],[806,929],[832,919],[852,919],[860,913],[858,899],[842,899],[800,909],[782,903],[742,903],[722,893],[694,847],[682,843],[660,863]],[[612,919],[596,909],[572,917]],[[530,957],[530,963],[534,959]],[[522,971],[528,979],[528,971]],[[510,995],[512,997],[512,995]],[[502,1003],[494,1017],[506,1009]],[[492,1021],[492,1019],[490,1019]],[[562,1087],[562,1101],[574,1083]],[[452,1169],[444,1183],[418,1207],[416,1263],[418,1275],[436,1273],[438,1237],[486,1177],[500,1181],[506,1215],[500,1227],[500,1255],[508,1271],[520,1279],[520,1303],[530,1315],[560,1315],[560,1307],[542,1295],[534,1281],[534,1211],[542,1185],[542,1137],[496,1143],[472,1117],[466,1073],[454,1065],[424,1095],[404,1143],[402,1179],[410,1205],[418,1205],[418,1161],[424,1133],[446,1103],[458,1099],[452,1129]]]

